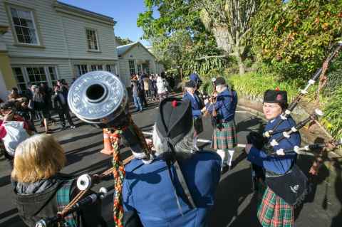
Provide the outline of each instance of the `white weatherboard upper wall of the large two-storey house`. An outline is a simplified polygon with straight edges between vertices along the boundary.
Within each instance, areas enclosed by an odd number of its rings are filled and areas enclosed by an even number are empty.
[[[41,46],[16,45],[8,15],[10,6],[33,11]],[[56,0],[0,0],[0,26],[10,26],[3,38],[11,67],[52,65],[56,66],[58,78],[71,82],[76,76],[74,64],[118,64],[114,21],[107,16]],[[88,51],[86,28],[96,30],[99,51]]]

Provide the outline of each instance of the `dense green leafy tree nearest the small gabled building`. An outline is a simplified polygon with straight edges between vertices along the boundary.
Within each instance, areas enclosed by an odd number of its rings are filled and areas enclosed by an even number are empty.
[[[146,0],[145,5],[147,11],[139,15],[137,24],[158,60],[177,68],[181,76],[183,71],[206,74],[213,68],[223,70],[226,59],[204,28],[195,1]],[[152,16],[154,7],[160,13],[157,19]]]

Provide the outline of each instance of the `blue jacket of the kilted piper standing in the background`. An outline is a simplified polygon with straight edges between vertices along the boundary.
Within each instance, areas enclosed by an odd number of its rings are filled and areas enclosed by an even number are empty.
[[[207,110],[210,113],[214,108],[217,111],[217,120],[224,122],[234,120],[235,110],[237,110],[237,92],[227,88],[219,93],[214,105],[207,104]]]

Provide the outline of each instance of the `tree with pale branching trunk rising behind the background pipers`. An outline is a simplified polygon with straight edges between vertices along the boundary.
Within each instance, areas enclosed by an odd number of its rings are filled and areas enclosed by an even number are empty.
[[[250,21],[257,0],[197,0],[204,26],[214,34],[217,46],[235,56],[239,73],[244,74],[244,59],[251,41]]]

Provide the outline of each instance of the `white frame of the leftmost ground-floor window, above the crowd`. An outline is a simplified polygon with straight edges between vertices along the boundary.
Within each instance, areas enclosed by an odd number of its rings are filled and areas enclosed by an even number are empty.
[[[51,74],[50,74],[50,71],[48,70],[49,67],[55,68],[55,73],[56,73],[55,80],[51,80]],[[23,73],[23,76],[24,76],[26,88],[27,88],[28,83],[34,84],[34,83],[41,83],[41,82],[46,82],[48,84],[48,86],[50,88],[52,88],[53,82],[59,79],[58,66],[57,65],[12,65],[11,68],[12,68],[13,72],[14,72],[14,68],[20,68],[21,69],[21,73]],[[28,77],[27,68],[43,68],[45,76],[46,76],[46,80],[40,80],[38,82],[31,81]],[[16,77],[16,73],[14,73],[14,77],[16,78],[17,85],[24,84],[24,83],[18,81],[18,79]],[[21,88],[19,86],[17,86],[17,87],[19,90],[21,90]]]

